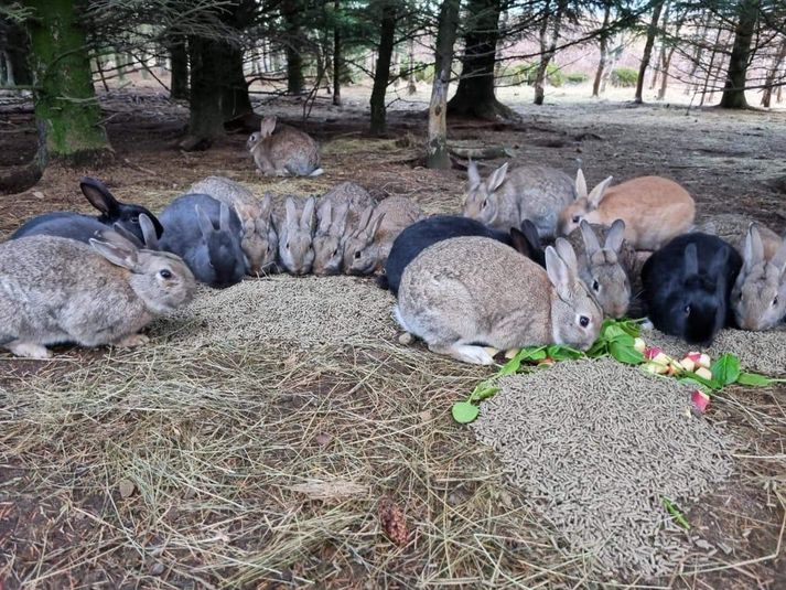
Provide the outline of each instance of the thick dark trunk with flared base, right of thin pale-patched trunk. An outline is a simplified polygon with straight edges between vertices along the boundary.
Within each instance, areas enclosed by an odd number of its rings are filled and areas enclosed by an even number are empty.
[[[477,119],[512,119],[512,109],[494,95],[494,63],[499,37],[500,0],[470,0],[464,35],[462,72],[455,96],[448,103],[449,115]]]

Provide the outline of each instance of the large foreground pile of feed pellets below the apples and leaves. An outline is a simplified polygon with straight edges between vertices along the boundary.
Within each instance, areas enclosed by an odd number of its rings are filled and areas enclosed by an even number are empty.
[[[668,575],[690,551],[681,508],[732,472],[733,441],[690,414],[688,389],[611,358],[499,380],[472,427],[524,502],[602,572]],[[695,565],[691,562],[691,565]]]

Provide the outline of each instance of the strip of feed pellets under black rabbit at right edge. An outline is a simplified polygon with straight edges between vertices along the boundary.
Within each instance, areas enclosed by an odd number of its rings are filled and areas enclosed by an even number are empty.
[[[642,337],[648,346],[660,346],[666,354],[678,360],[690,351],[706,352],[712,361],[723,353],[731,353],[740,358],[744,371],[771,376],[786,374],[786,326],[766,332],[721,330],[711,346],[691,345],[658,330],[643,330]]]

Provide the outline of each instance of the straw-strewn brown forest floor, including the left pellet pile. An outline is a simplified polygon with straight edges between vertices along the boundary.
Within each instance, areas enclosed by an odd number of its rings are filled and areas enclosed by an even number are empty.
[[[261,179],[246,133],[185,153],[174,147],[185,105],[111,93],[103,108],[116,163],[51,168],[31,189],[0,196],[0,238],[44,211],[89,211],[84,174],[153,211],[222,174],[276,195],[351,180],[380,199],[411,196],[428,213],[459,212],[464,171],[422,168],[420,98],[392,105],[385,138],[367,136],[362,92],[342,108],[321,100],[306,129],[325,174]],[[668,175],[695,196],[699,221],[734,213],[786,229],[786,195],[774,182],[786,172],[786,112],[513,106],[520,122],[451,121],[451,142],[507,146],[517,162],[570,174],[580,158],[590,184]],[[278,99],[258,111],[299,125],[302,104]],[[35,128],[29,103],[0,99],[0,112],[6,175],[33,157]],[[265,298],[254,299],[255,283]],[[572,553],[525,505],[493,451],[450,415],[488,371],[400,345],[391,300],[372,280],[266,277],[205,298],[213,311],[157,322],[142,350],[62,346],[51,362],[0,354],[0,588],[786,583],[784,387],[731,387],[713,400],[706,419],[744,441],[745,458],[722,487],[682,505],[690,556],[647,580]],[[332,321],[334,333],[303,330]],[[405,523],[400,544],[384,534],[391,514]]]

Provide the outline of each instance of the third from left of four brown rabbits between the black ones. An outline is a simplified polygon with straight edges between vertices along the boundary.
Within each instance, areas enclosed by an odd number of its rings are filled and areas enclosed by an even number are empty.
[[[320,277],[341,272],[344,236],[354,232],[360,212],[374,205],[372,195],[354,182],[343,182],[320,199],[316,208],[313,272]]]

